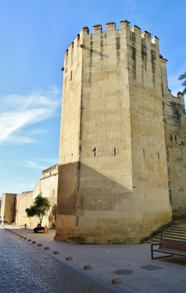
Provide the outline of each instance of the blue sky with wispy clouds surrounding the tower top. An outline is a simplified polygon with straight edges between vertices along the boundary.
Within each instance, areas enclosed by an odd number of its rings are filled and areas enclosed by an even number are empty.
[[[168,87],[186,71],[185,0],[0,0],[0,197],[58,163],[64,53],[84,25],[126,19],[159,38]]]

